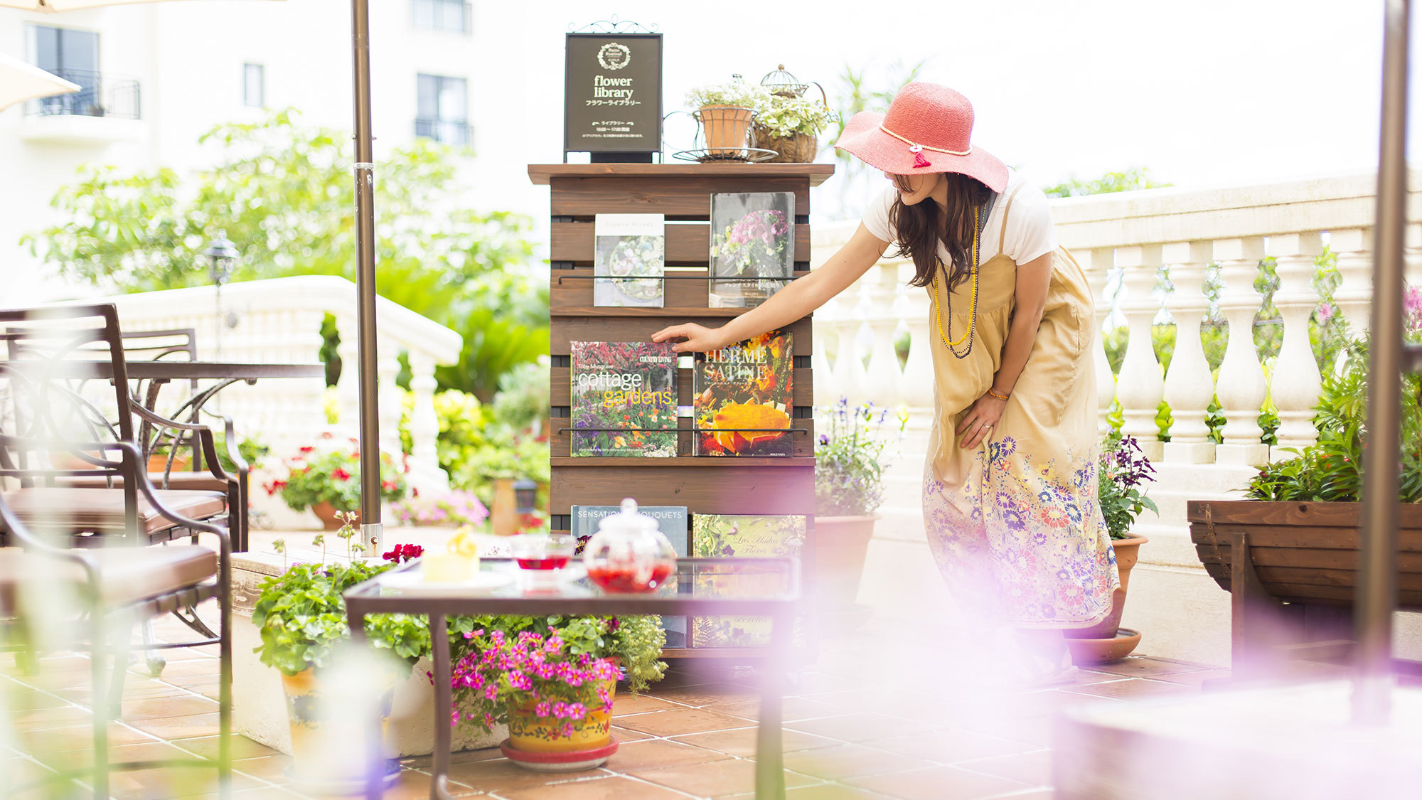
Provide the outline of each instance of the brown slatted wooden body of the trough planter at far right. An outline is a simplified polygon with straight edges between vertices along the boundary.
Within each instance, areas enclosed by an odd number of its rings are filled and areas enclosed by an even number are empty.
[[[1190,540],[1204,571],[1230,591],[1230,540],[1244,534],[1266,591],[1290,602],[1351,604],[1358,584],[1361,504],[1192,501]],[[1399,605],[1422,609],[1422,508],[1404,505]]]

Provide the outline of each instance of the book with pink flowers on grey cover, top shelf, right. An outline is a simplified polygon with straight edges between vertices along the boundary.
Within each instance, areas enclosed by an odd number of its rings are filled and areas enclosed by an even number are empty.
[[[711,195],[707,305],[758,306],[795,276],[795,192]]]

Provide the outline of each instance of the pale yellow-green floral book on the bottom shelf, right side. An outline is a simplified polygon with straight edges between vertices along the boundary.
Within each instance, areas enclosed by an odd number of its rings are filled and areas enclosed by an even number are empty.
[[[695,514],[691,517],[691,552],[697,558],[798,557],[805,544],[805,517]],[[698,588],[715,588],[717,575],[694,578]],[[737,575],[742,585],[748,575]],[[779,578],[768,578],[778,582]],[[769,586],[768,586],[769,589]],[[693,648],[764,648],[771,642],[769,616],[693,616]]]

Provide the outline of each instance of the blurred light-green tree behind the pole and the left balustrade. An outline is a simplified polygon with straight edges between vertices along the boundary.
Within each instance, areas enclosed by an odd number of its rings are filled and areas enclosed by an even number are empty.
[[[27,235],[31,252],[75,282],[146,292],[210,282],[206,243],[225,231],[240,253],[232,279],[356,278],[350,135],[304,125],[294,111],[219,125],[199,140],[213,165],[183,182],[171,169],[88,167],[51,206],[64,223]],[[394,148],[375,168],[375,268],[381,296],[465,337],[445,387],[492,397],[513,364],[547,353],[547,285],[526,270],[530,221],[464,205],[459,151],[429,140]],[[327,381],[334,344],[354,332],[323,325]]]

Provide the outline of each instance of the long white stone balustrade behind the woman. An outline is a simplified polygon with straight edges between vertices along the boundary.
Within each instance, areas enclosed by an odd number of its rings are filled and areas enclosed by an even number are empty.
[[[1422,177],[1422,172],[1418,174]],[[1422,182],[1413,181],[1413,185]],[[1308,339],[1310,316],[1325,299],[1345,315],[1357,336],[1367,330],[1371,299],[1375,175],[1320,178],[1256,186],[1185,191],[1150,189],[1052,201],[1061,243],[1086,270],[1096,298],[1098,329],[1106,320],[1128,327],[1121,374],[1112,373],[1095,333],[1096,389],[1102,420],[1119,401],[1125,430],[1146,451],[1166,463],[1258,464],[1283,457],[1260,441],[1258,414],[1266,400],[1280,414],[1280,444],[1303,446],[1314,438],[1310,423],[1318,399],[1318,366]],[[1422,194],[1413,196],[1406,251],[1408,280],[1422,282]],[[849,239],[857,222],[818,223],[813,263],[823,263]],[[1315,259],[1328,246],[1338,259],[1341,282],[1331,298],[1314,286]],[[1283,317],[1283,344],[1271,364],[1260,363],[1254,319],[1264,299],[1254,289],[1260,259],[1273,256],[1280,285],[1273,305]],[[1219,313],[1229,320],[1224,363],[1217,380],[1202,342],[1209,312],[1206,275],[1217,265],[1223,279]],[[1162,298],[1160,268],[1173,289]],[[904,259],[884,259],[836,302],[816,315],[816,335],[838,337],[838,357],[816,343],[816,399],[839,396],[909,406],[923,416],[931,406],[933,336],[923,289],[904,289],[912,273]],[[1115,276],[1119,275],[1119,292]],[[1108,296],[1113,295],[1113,296]],[[897,307],[894,306],[897,298]],[[1163,307],[1176,323],[1175,353],[1162,372],[1150,336]],[[900,367],[893,339],[907,326],[907,366]],[[870,335],[862,329],[867,326]],[[872,342],[866,350],[862,342]],[[845,354],[850,357],[845,357]],[[1266,377],[1266,366],[1270,377]],[[1224,443],[1209,441],[1206,409],[1219,399],[1226,424]],[[1167,447],[1155,424],[1156,407],[1172,410]]]

